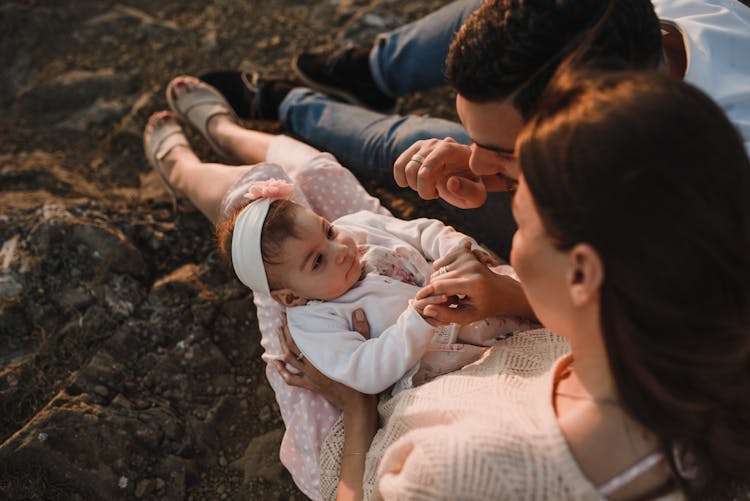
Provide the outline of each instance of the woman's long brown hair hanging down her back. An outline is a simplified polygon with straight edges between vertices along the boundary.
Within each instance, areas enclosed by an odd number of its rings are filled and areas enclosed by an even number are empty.
[[[555,245],[601,255],[601,328],[623,406],[660,438],[691,498],[746,498],[750,161],[739,134],[701,91],[656,72],[564,71],[539,110],[519,137],[521,170]]]

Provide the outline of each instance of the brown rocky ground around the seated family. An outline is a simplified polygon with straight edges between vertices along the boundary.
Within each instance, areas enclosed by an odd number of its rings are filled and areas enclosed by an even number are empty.
[[[304,498],[278,460],[250,294],[208,222],[172,211],[142,129],[175,75],[288,76],[298,50],[369,44],[444,3],[0,5],[0,498]],[[450,117],[452,103],[399,111]]]

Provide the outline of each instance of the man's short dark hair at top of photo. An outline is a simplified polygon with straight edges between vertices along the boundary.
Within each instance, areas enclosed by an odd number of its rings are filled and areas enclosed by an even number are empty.
[[[446,73],[462,97],[480,103],[510,97],[527,120],[574,53],[589,66],[656,68],[661,31],[650,0],[487,0],[456,34]]]

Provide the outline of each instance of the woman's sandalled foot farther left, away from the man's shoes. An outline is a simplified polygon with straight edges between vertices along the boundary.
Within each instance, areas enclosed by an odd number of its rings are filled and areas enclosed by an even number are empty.
[[[177,118],[169,111],[151,115],[143,131],[143,150],[151,166],[159,175],[164,187],[177,208],[177,197],[182,196],[179,186],[178,163],[200,162],[185,137]]]

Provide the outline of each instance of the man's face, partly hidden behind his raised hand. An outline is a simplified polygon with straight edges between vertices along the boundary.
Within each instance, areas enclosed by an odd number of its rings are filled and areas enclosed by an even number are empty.
[[[458,95],[456,111],[473,141],[471,171],[482,176],[487,191],[506,191],[515,185],[520,175],[516,138],[523,128],[518,110],[509,100],[474,103]]]

